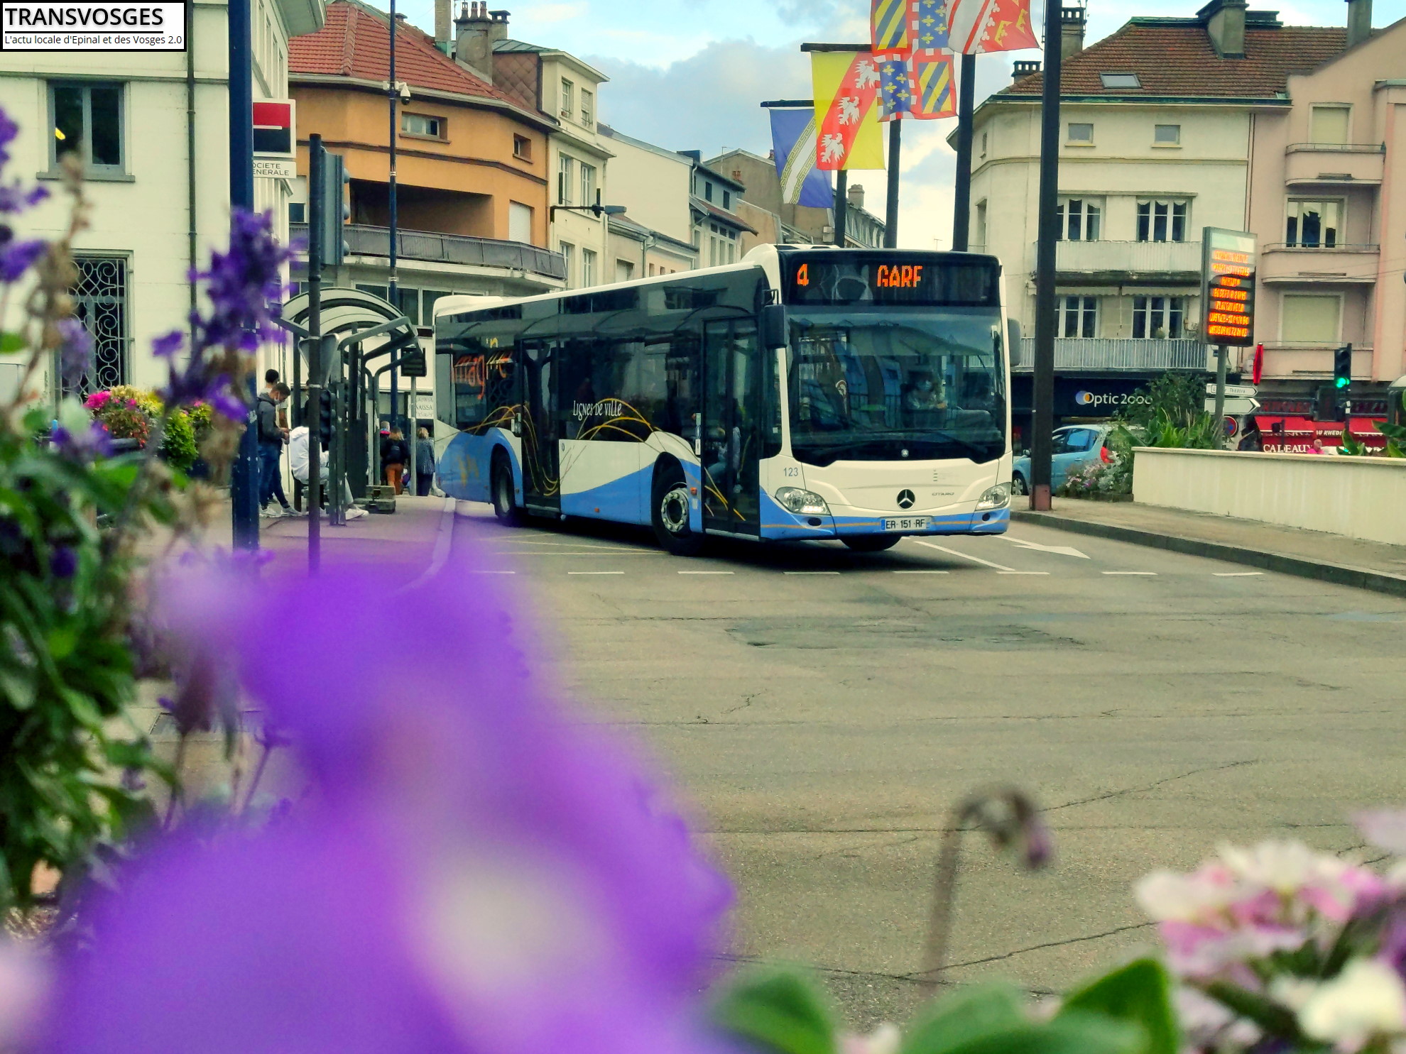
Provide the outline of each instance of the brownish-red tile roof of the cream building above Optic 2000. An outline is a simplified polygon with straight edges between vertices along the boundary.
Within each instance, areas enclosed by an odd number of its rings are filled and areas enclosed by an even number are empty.
[[[1205,24],[1195,18],[1133,18],[1066,59],[1060,94],[1270,98],[1288,87],[1291,73],[1306,73],[1343,52],[1347,30],[1336,25],[1247,25],[1244,58],[1222,59]],[[1105,89],[1099,73],[1136,73],[1142,89]],[[1005,87],[1002,96],[1038,96],[1043,74]]]

